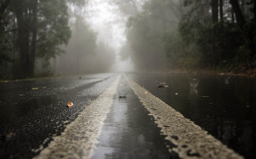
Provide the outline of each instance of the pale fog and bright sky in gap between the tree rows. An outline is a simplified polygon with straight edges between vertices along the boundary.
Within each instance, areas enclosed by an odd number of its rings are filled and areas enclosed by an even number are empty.
[[[121,47],[126,42],[127,18],[120,14],[118,6],[104,0],[94,0],[84,7],[85,11],[80,13],[79,21],[86,26],[73,27],[72,38],[69,44],[64,46],[66,53],[58,55],[55,59],[55,72],[59,75],[70,75],[133,71],[131,59],[121,60],[119,55]],[[76,25],[76,22],[70,25]],[[81,34],[86,29],[94,34],[95,38],[88,33],[84,34],[89,37],[87,40],[80,37],[83,35],[76,35],[76,32]],[[94,48],[91,47],[93,43],[87,45],[88,41],[96,43]]]

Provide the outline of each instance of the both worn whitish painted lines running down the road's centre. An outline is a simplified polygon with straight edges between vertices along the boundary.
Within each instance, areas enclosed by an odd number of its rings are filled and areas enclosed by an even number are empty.
[[[177,147],[169,149],[180,158],[243,158],[219,140],[207,134],[198,125],[186,119],[179,112],[149,93],[133,80],[125,76],[143,105],[155,117],[155,123],[162,128],[166,139]],[[101,127],[113,104],[120,75],[69,125],[60,136],[54,137],[48,147],[34,157],[45,158],[83,158],[89,159],[93,153]]]

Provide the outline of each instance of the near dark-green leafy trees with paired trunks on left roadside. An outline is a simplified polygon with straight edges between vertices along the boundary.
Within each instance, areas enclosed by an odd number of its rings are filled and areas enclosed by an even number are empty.
[[[13,63],[14,78],[33,77],[36,58],[63,52],[71,36],[67,1],[13,0],[1,18],[1,63]]]

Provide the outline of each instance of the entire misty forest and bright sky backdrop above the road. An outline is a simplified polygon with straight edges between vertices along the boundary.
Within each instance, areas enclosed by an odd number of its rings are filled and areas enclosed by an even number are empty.
[[[255,0],[1,0],[2,80],[256,66]]]

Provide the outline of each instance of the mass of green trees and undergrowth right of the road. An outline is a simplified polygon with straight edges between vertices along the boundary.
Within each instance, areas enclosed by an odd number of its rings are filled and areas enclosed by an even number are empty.
[[[124,48],[139,70],[255,67],[255,3],[148,0],[129,17]]]

